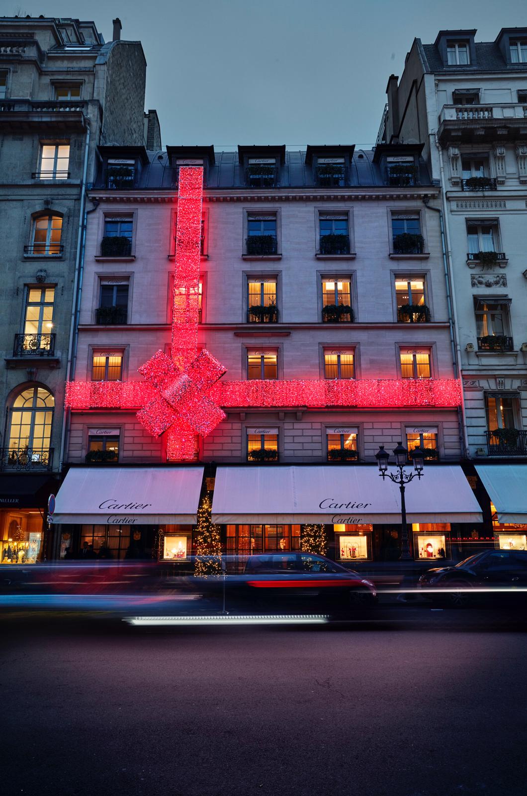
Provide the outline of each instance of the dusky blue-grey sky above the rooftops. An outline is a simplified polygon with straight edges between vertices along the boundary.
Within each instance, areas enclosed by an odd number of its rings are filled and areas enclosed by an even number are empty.
[[[5,6],[4,6],[5,7]],[[525,0],[21,0],[25,14],[92,18],[111,40],[140,39],[148,63],[146,108],[163,146],[375,142],[391,72],[414,37],[527,26]],[[4,10],[4,14],[13,13]]]

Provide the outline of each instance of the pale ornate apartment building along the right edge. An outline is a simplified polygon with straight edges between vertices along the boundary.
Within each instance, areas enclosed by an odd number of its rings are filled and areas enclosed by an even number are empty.
[[[527,470],[511,462],[527,456],[527,28],[475,36],[414,40],[388,80],[379,139],[423,141],[442,189],[466,455],[494,501],[495,533],[525,548]]]

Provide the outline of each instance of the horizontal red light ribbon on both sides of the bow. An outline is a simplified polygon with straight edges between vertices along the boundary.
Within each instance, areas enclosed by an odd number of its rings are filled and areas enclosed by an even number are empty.
[[[454,408],[461,404],[457,379],[342,379],[221,381],[206,393],[223,408]],[[73,409],[135,409],[156,396],[144,381],[71,381],[66,405]]]

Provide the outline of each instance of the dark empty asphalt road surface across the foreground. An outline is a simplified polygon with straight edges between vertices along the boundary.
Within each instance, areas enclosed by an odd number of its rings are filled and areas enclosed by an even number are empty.
[[[527,623],[2,615],[3,796],[524,796]]]

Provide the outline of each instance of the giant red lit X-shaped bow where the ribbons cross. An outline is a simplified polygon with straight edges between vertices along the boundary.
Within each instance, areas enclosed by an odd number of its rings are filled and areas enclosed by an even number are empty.
[[[186,423],[195,434],[205,436],[217,427],[225,414],[203,393],[223,376],[226,368],[209,351],[201,351],[186,371],[174,367],[166,353],[154,353],[139,373],[159,393],[137,413],[139,422],[158,437],[176,420]]]

